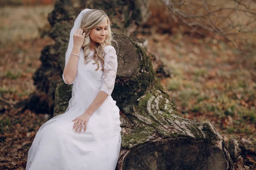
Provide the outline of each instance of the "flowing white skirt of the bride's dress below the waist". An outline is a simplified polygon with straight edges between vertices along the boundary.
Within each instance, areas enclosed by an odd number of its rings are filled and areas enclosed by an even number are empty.
[[[85,132],[75,133],[71,122],[85,111],[79,105],[45,122],[29,149],[26,170],[114,170],[121,147],[115,103],[107,98],[90,117]]]

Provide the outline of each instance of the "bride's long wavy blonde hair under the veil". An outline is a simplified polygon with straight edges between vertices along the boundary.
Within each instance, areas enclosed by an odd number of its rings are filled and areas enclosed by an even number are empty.
[[[84,51],[84,62],[87,62],[88,60],[88,54],[90,53],[90,31],[92,28],[98,26],[99,24],[103,23],[107,19],[108,21],[108,37],[105,38],[103,43],[96,43],[96,46],[94,47],[94,56],[93,59],[96,61],[98,67],[96,70],[99,69],[99,62],[102,64],[102,69],[103,70],[103,65],[104,65],[104,56],[105,56],[105,51],[104,47],[106,45],[111,45],[111,41],[113,40],[113,33],[111,32],[111,27],[110,27],[110,21],[108,18],[108,15],[99,9],[92,9],[90,11],[87,11],[80,24],[80,28],[83,29],[85,32],[85,37],[84,37],[84,44],[82,45],[83,51]]]

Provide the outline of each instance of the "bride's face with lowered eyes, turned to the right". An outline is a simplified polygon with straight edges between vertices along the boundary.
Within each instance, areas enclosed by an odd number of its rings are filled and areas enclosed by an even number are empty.
[[[94,27],[90,31],[90,39],[92,42],[103,43],[106,37],[108,37],[108,21],[107,19],[99,24],[98,26]]]

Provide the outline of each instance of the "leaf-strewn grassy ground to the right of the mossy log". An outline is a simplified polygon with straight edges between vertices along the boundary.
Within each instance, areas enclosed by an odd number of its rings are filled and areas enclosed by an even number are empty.
[[[171,77],[161,80],[183,117],[210,122],[224,138],[256,134],[256,57],[189,35],[140,35]],[[256,139],[253,139],[256,142]],[[226,141],[227,142],[227,141]]]

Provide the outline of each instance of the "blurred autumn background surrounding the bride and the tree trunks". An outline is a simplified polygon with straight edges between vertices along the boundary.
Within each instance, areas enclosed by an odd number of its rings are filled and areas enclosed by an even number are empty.
[[[256,1],[124,0],[121,8],[113,0],[1,0],[0,169],[25,169],[35,133],[52,116],[52,97],[35,80],[46,55],[41,51],[55,44],[60,2],[77,14],[109,5],[112,31],[152,54],[177,111],[210,122],[229,145],[236,169],[256,168]]]

